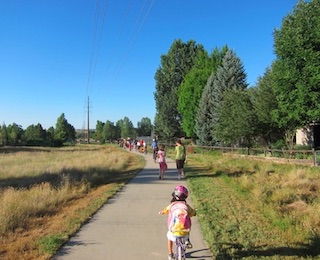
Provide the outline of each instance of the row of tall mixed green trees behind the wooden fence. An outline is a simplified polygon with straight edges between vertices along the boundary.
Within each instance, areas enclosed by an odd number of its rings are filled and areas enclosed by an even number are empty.
[[[320,0],[300,0],[274,31],[275,61],[248,87],[228,46],[208,54],[176,40],[156,71],[154,130],[161,139],[200,145],[292,147],[296,130],[320,119]]]

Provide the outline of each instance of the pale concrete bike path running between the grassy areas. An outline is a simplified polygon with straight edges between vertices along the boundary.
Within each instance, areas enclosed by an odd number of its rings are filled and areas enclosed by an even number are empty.
[[[167,206],[178,184],[174,161],[167,159],[168,170],[159,180],[159,165],[151,154],[144,169],[110,199],[79,232],[53,257],[54,260],[141,260],[168,259],[166,215],[158,212]],[[190,198],[188,203],[192,205]],[[192,249],[187,259],[212,259],[203,240],[197,217],[192,218]]]

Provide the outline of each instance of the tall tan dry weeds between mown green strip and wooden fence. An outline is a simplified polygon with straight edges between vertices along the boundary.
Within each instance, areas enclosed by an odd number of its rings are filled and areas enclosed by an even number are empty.
[[[242,162],[238,162],[242,164]],[[250,164],[250,163],[249,163]],[[244,162],[246,170],[237,184],[262,205],[274,223],[292,225],[296,230],[320,233],[320,176],[319,170],[305,166],[276,165],[273,163]],[[237,164],[234,165],[237,167]],[[268,212],[267,212],[268,211]],[[272,212],[273,211],[273,212]]]

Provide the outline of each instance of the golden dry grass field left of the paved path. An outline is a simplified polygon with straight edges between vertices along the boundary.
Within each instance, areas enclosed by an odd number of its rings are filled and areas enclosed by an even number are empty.
[[[0,258],[49,259],[143,166],[116,146],[0,148]]]

